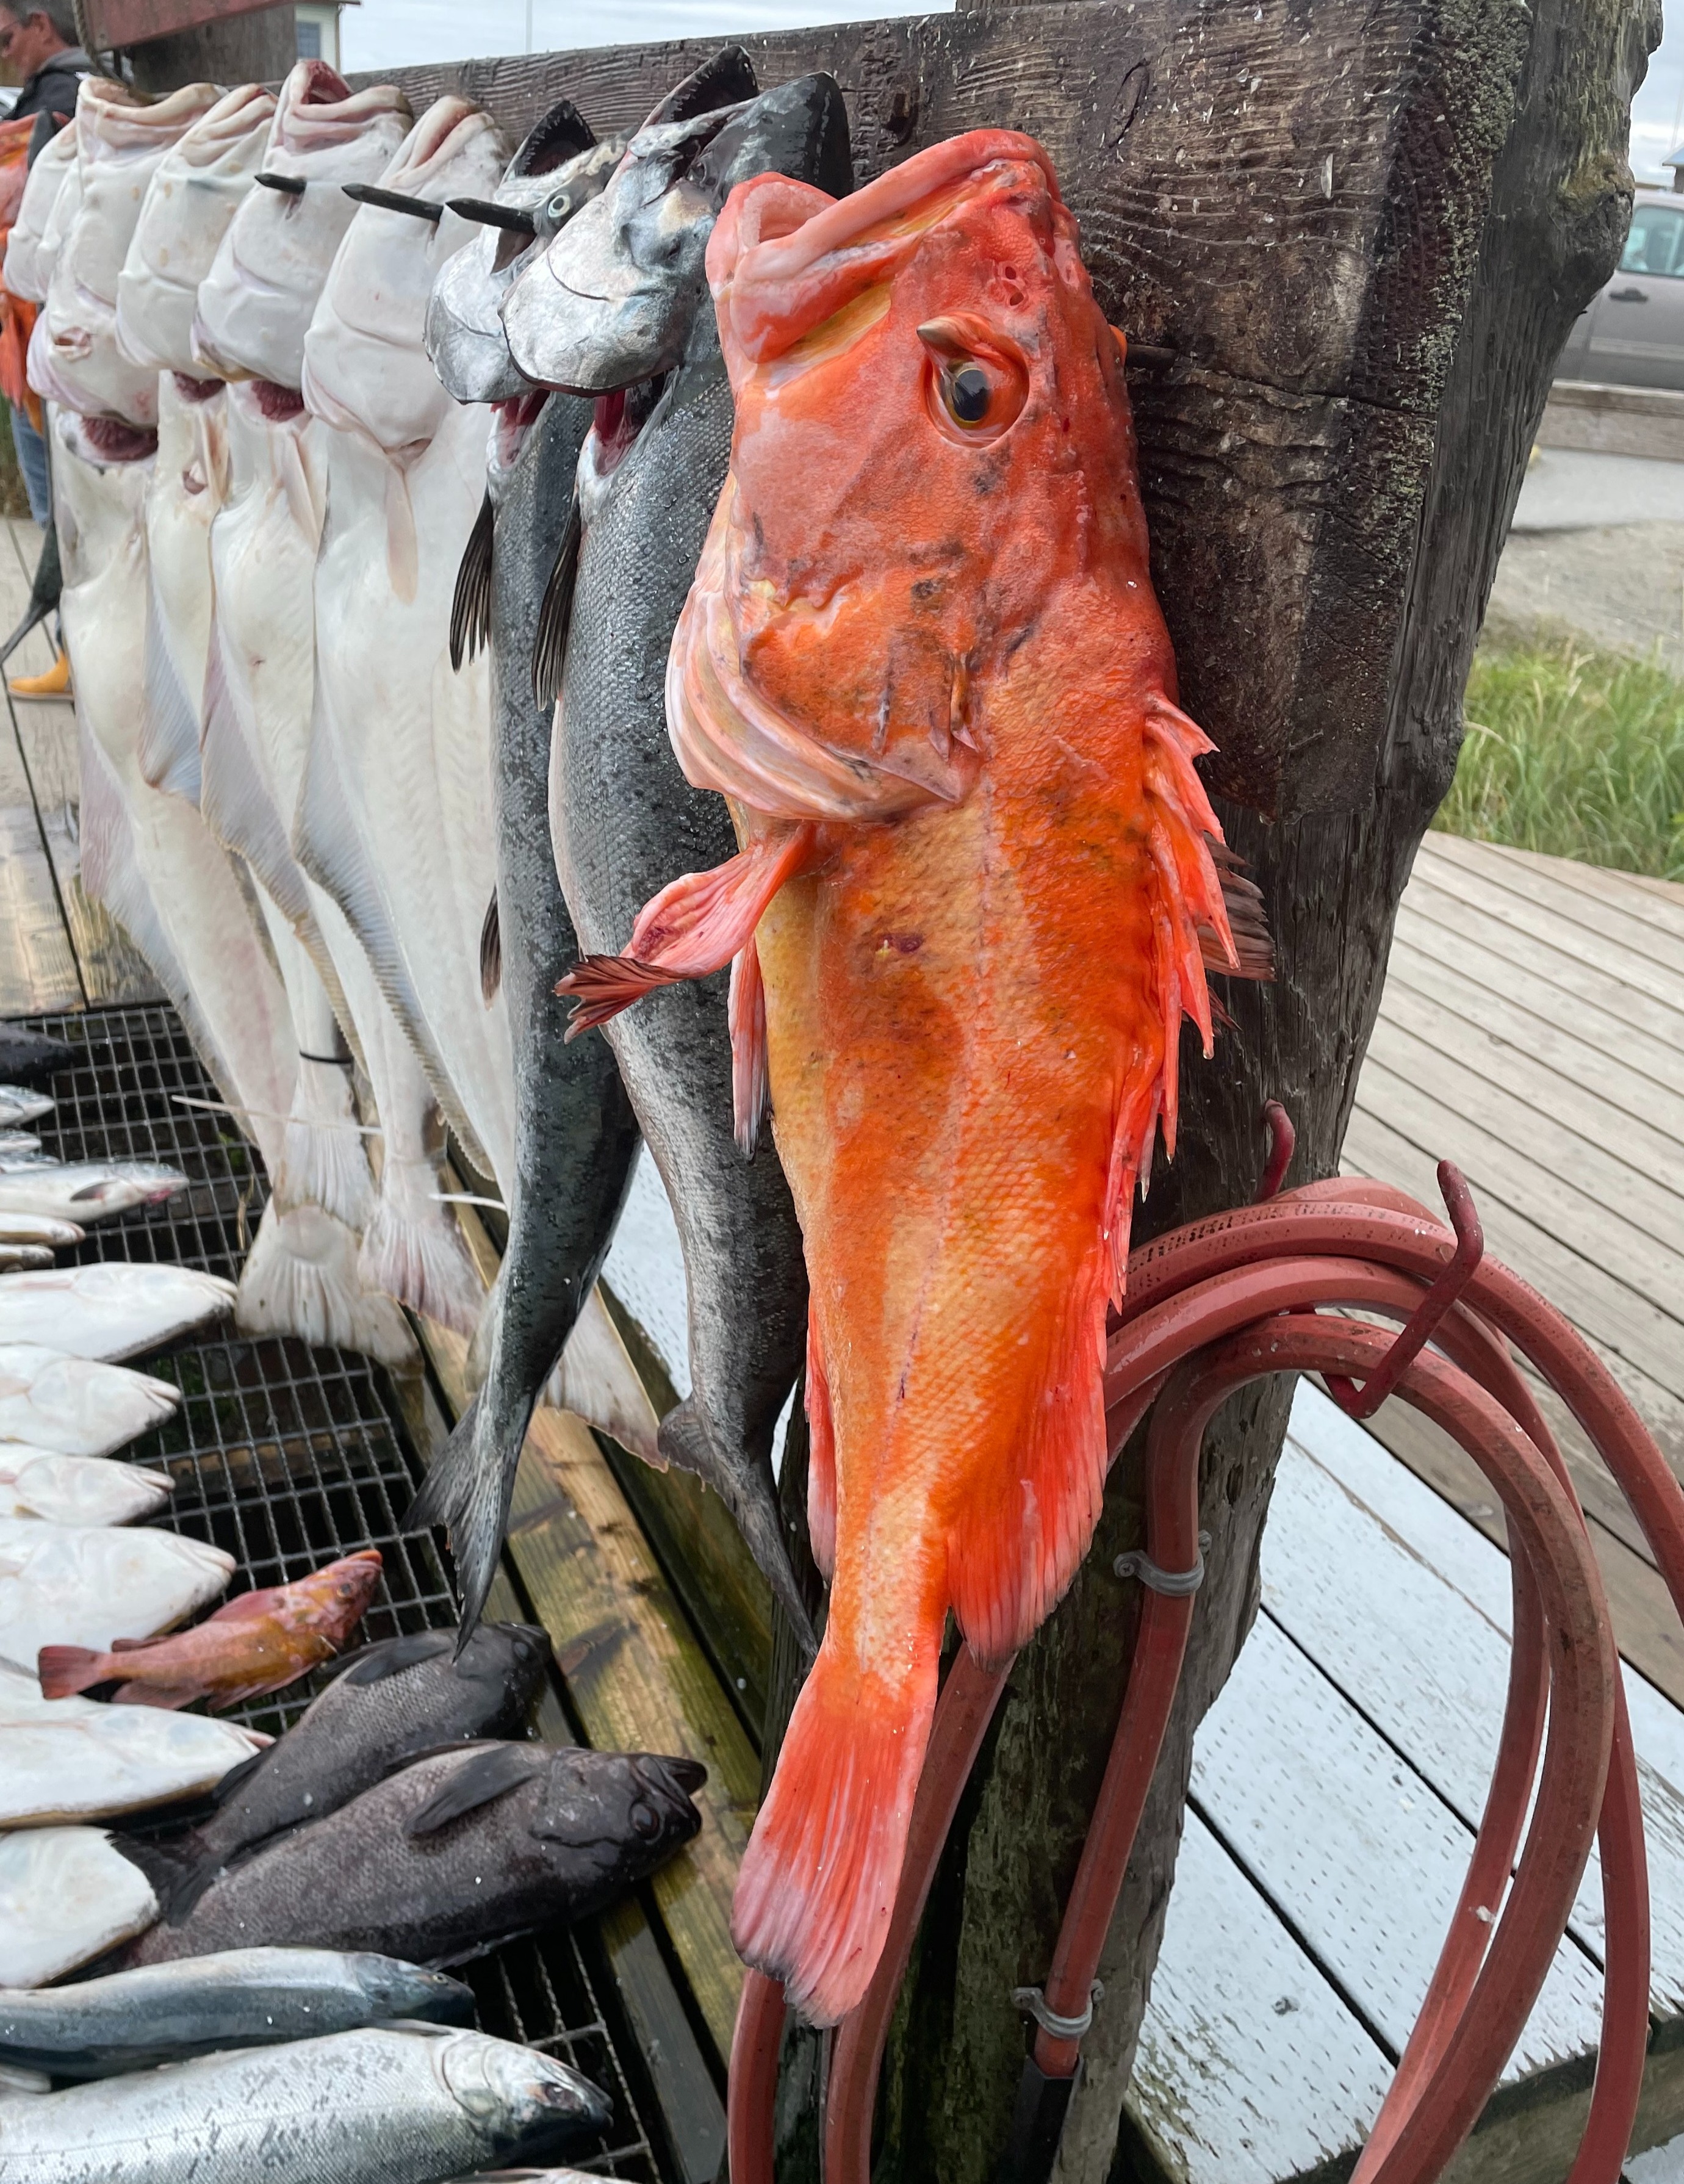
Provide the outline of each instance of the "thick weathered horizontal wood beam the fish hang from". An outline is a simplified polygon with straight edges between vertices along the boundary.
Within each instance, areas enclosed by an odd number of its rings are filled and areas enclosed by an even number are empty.
[[[1031,7],[745,37],[828,70],[856,179],[974,127],[1037,135],[1134,343],[1153,577],[1212,778],[1260,808],[1367,791],[1520,66],[1511,0]],[[566,94],[629,129],[716,41],[400,70],[511,135]]]

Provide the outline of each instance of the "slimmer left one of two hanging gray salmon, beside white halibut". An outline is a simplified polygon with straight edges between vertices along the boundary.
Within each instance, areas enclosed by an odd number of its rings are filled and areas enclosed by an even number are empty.
[[[572,107],[553,109],[515,153],[515,164],[572,142],[577,131],[566,116]],[[577,116],[572,122],[583,127]],[[579,188],[577,170],[579,159],[557,168],[559,188],[546,218],[559,216],[568,177]],[[588,192],[579,201],[585,203]],[[452,264],[476,258],[478,245]],[[452,323],[472,317],[461,282],[452,312]],[[496,299],[478,317],[498,325]],[[485,367],[481,347],[441,341],[435,365],[452,395],[476,400]],[[452,376],[459,365],[461,380]],[[481,633],[491,640],[498,887],[481,943],[481,976],[485,983],[496,954],[515,1048],[515,1179],[509,1241],[487,1306],[485,1378],[408,1518],[411,1524],[450,1527],[465,1631],[496,1575],[533,1406],[607,1258],[638,1151],[638,1123],[614,1053],[594,1040],[566,1044],[568,1005],[557,998],[555,981],[577,959],[579,939],[550,847],[555,708],[548,699],[539,703],[531,688],[539,607],[574,524],[572,478],[590,430],[590,404],[546,397],[524,380],[518,384],[522,395],[496,404],[487,513],[470,539],[456,592],[461,629],[452,625],[456,657],[472,653]]]

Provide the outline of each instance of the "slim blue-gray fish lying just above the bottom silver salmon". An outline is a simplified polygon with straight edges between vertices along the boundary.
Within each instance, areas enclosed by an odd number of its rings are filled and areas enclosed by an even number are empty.
[[[472,2025],[474,1990],[395,1957],[232,1948],[72,1987],[0,1987],[0,2062],[52,2077],[114,2077],[393,2018]]]

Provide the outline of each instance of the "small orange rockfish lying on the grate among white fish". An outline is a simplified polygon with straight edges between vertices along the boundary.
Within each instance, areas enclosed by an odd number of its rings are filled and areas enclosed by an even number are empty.
[[[44,1699],[68,1699],[94,1684],[122,1684],[118,1706],[190,1706],[216,1712],[282,1690],[332,1660],[380,1583],[380,1548],[365,1546],[290,1586],[242,1592],[192,1629],[168,1638],[118,1638],[109,1653],[44,1645],[37,1658]]]

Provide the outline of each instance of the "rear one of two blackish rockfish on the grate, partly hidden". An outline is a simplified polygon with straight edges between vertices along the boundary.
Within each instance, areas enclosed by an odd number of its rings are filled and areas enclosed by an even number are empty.
[[[216,1811],[177,1848],[197,1876],[321,1819],[422,1752],[520,1736],[550,1664],[548,1631],[483,1623],[365,1647],[266,1752],[216,1787]]]

